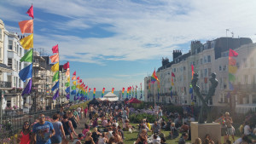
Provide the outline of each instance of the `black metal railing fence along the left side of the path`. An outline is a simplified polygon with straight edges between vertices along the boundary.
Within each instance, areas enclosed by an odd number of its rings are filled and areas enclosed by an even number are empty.
[[[29,112],[19,115],[3,115],[0,118],[0,140],[17,134],[22,129],[25,121],[35,124],[40,114],[44,114],[46,118],[51,118],[57,111],[58,109],[56,108],[54,110]]]

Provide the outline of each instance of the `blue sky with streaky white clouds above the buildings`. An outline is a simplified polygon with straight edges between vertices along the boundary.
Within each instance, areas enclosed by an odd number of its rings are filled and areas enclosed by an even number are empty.
[[[254,0],[0,1],[8,31],[20,33],[32,3],[34,47],[51,55],[58,43],[61,63],[70,61],[71,73],[99,90],[139,85],[162,57],[172,60],[173,49],[187,53],[190,41],[225,37],[225,29],[256,40]]]

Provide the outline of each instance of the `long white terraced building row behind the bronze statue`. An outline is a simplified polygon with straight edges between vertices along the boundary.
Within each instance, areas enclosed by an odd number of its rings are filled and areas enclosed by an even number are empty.
[[[236,72],[235,90],[229,85],[229,49],[235,49],[238,70]],[[250,38],[220,37],[207,43],[193,41],[189,53],[182,55],[181,51],[173,51],[173,60],[162,60],[162,66],[157,75],[160,79],[160,101],[176,105],[201,105],[196,95],[191,97],[191,65],[199,74],[198,85],[201,94],[207,95],[210,87],[209,78],[216,72],[218,87],[215,95],[208,101],[209,105],[219,107],[236,107],[236,112],[247,112],[256,107],[256,44]],[[173,78],[172,84],[172,73]],[[144,78],[145,101],[154,101],[154,84],[148,90],[151,76]],[[171,88],[172,86],[172,97]],[[229,95],[228,95],[229,94]],[[158,101],[158,100],[156,100]]]

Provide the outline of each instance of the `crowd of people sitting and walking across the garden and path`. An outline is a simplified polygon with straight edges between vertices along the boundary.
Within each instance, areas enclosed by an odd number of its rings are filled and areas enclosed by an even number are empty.
[[[20,144],[122,144],[125,140],[124,131],[133,133],[137,131],[135,144],[165,144],[167,139],[178,138],[178,144],[191,141],[190,122],[194,122],[193,115],[183,112],[163,112],[161,107],[152,108],[155,114],[154,124],[150,124],[147,118],[143,118],[140,124],[131,125],[129,120],[130,108],[117,103],[90,105],[89,107],[78,107],[72,111],[65,111],[61,107],[58,113],[52,116],[51,122],[45,120],[44,114],[38,117],[38,123],[30,125],[24,122],[20,131],[18,142]],[[165,119],[163,115],[166,115]],[[85,120],[84,120],[85,118]],[[80,121],[85,121],[84,129],[76,132],[81,127]],[[251,130],[247,123],[241,125],[241,138],[235,140],[235,130],[230,113],[216,119],[216,123],[222,124],[222,134],[227,144],[253,143],[250,135],[255,135],[256,130]],[[169,131],[164,135],[162,130]],[[79,131],[79,130],[77,130]],[[232,138],[230,140],[230,137]],[[196,138],[195,144],[214,144],[211,135],[205,138]]]

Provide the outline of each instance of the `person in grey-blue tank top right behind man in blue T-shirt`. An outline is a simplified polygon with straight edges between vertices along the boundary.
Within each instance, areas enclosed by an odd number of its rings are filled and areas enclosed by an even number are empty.
[[[63,139],[66,139],[66,136],[65,136],[65,132],[63,130],[63,126],[62,126],[61,122],[59,121],[60,114],[55,113],[52,118],[53,118],[52,124],[55,129],[55,135],[53,135],[50,138],[50,141],[52,142],[52,144],[61,144],[61,134],[62,134]]]

